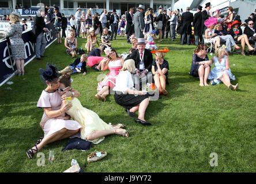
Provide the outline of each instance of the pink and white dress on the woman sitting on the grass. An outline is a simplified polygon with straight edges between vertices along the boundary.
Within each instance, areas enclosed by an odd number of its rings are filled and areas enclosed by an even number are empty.
[[[120,69],[122,69],[122,63],[120,59],[108,63],[108,70],[110,70],[110,72],[103,81],[98,83],[97,91],[100,91],[103,86],[109,86],[113,89],[115,87],[116,76],[119,74]]]

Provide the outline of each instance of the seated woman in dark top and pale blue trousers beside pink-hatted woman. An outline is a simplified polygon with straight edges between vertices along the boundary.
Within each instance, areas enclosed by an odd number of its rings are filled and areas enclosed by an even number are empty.
[[[221,24],[217,24],[214,26],[215,32],[218,36],[220,36],[220,43],[225,43],[226,48],[226,55],[229,55],[228,52],[231,52],[231,47],[234,46],[235,49],[240,49],[238,45],[236,45],[235,40],[233,37],[228,34],[225,30],[223,30]]]

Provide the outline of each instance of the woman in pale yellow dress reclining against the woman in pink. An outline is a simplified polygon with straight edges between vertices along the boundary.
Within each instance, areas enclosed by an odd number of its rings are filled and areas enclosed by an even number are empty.
[[[66,91],[69,91],[71,82],[70,75],[62,75],[60,78],[60,84],[58,93],[63,95]],[[65,99],[62,101],[62,105],[65,105]],[[81,139],[92,141],[93,144],[98,144],[104,140],[104,136],[111,134],[122,135],[123,137],[129,137],[128,132],[123,124],[111,125],[107,124],[92,110],[84,108],[80,101],[72,97],[71,108],[66,112],[81,126]]]

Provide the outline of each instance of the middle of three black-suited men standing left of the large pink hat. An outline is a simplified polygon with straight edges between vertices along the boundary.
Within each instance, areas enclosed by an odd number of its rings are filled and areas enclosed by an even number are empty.
[[[195,13],[193,20],[193,27],[195,33],[195,45],[199,45],[199,39],[202,43],[202,34],[204,31],[204,24],[202,24],[202,6],[197,7],[197,13]]]

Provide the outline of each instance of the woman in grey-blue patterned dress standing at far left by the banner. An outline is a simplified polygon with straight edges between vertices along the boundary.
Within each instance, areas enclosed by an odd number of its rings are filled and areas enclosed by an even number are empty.
[[[16,75],[24,75],[25,44],[21,38],[22,26],[20,24],[20,14],[13,12],[10,14],[12,24],[4,32],[5,38],[9,37],[10,48],[12,50],[13,60],[15,60],[17,72]]]

